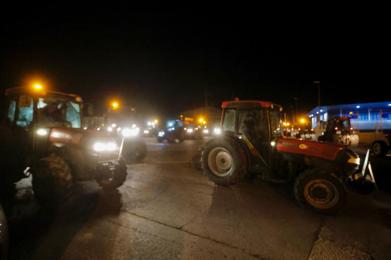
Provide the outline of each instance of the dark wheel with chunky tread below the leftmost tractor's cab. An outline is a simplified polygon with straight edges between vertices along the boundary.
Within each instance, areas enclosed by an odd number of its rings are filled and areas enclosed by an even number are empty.
[[[32,189],[38,203],[58,208],[72,195],[72,173],[63,158],[52,154],[42,158],[32,175]]]

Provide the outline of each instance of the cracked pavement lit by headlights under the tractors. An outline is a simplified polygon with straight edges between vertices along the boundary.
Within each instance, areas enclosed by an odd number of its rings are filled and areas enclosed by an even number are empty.
[[[42,210],[22,180],[10,259],[391,259],[389,192],[350,192],[344,209],[323,216],[299,207],[289,185],[215,186],[191,161],[206,140],[145,138],[148,156],[127,163],[123,186],[106,193],[95,182],[78,184],[56,214]],[[389,159],[373,164],[382,188]]]

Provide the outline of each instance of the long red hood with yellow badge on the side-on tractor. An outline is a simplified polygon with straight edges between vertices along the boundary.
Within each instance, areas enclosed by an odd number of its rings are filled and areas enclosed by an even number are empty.
[[[331,161],[338,159],[337,155],[340,151],[343,154],[349,154],[353,161],[357,161],[359,156],[350,150],[348,147],[336,145],[334,143],[325,143],[320,141],[309,141],[291,138],[278,138],[277,150],[280,152],[292,152],[295,154],[303,154],[307,156],[319,157]],[[341,154],[340,153],[340,154]],[[350,158],[348,158],[349,160]]]

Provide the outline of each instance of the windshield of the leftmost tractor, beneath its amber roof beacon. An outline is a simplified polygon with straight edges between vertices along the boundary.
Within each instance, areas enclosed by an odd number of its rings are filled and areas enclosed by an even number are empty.
[[[40,97],[37,106],[39,124],[81,127],[80,106],[74,101],[61,97]]]

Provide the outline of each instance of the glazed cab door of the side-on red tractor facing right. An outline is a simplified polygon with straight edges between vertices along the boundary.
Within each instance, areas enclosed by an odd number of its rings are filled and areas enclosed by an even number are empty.
[[[270,141],[269,122],[265,109],[239,109],[237,136],[250,151],[250,167],[253,172],[269,173]]]

